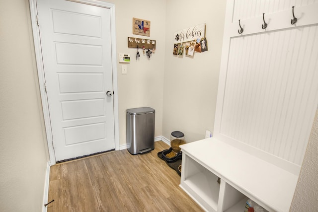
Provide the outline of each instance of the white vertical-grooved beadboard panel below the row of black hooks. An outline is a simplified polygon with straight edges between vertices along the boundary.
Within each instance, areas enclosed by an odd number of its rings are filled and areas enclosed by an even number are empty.
[[[231,39],[221,134],[301,165],[317,102],[317,31]]]

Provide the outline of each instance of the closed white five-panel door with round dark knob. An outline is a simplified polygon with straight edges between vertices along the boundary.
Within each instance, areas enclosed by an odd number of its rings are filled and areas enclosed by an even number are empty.
[[[67,0],[37,7],[56,161],[114,149],[110,10]]]

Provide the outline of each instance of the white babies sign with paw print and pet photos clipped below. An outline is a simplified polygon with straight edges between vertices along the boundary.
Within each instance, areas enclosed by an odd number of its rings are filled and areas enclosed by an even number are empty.
[[[205,23],[176,31],[173,39],[173,55],[183,55],[184,50],[186,56],[193,56],[194,51],[208,51]]]

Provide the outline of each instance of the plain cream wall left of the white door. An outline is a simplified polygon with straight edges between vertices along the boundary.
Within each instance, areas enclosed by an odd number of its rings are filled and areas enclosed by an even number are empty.
[[[0,1],[0,211],[39,212],[47,144],[28,0]]]

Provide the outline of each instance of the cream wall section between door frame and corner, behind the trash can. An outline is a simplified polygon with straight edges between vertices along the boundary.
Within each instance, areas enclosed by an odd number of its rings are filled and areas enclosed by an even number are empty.
[[[165,54],[166,0],[104,0],[115,4],[117,53],[128,53],[130,64],[119,64],[117,54],[119,139],[126,144],[126,110],[152,107],[156,110],[155,137],[162,135],[163,73]],[[151,21],[150,37],[132,33],[133,17]],[[135,48],[128,48],[128,37],[156,40],[156,52],[150,60],[140,48],[136,61]],[[127,65],[128,74],[121,74]],[[115,94],[116,95],[116,94]]]

